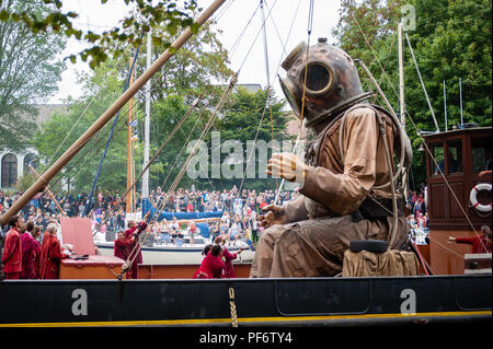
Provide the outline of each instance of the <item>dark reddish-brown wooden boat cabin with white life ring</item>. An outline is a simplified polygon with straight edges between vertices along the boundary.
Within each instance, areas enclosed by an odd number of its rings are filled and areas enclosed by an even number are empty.
[[[434,274],[463,274],[463,256],[471,247],[447,243],[448,236],[472,237],[482,225],[491,228],[491,131],[471,127],[424,137]]]

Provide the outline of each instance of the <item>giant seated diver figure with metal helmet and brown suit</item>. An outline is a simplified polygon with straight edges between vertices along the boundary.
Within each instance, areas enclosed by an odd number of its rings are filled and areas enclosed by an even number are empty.
[[[283,68],[286,98],[314,137],[305,160],[276,153],[268,162],[267,174],[297,182],[300,195],[283,207],[264,208],[266,229],[251,277],[335,276],[353,240],[382,240],[389,249],[403,248],[409,230],[403,198],[392,196],[395,168],[386,159],[386,148],[390,155],[402,148],[409,152],[399,120],[367,101],[371,93],[363,91],[353,59],[323,38],[308,55],[306,44],[299,44]]]

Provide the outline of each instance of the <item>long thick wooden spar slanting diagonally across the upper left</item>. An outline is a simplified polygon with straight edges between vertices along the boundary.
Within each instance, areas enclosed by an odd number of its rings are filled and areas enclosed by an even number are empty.
[[[216,0],[208,7],[194,22],[202,26],[226,0]],[[45,189],[45,186],[51,178],[72,159],[82,147],[110,121],[115,114],[144,86],[144,84],[173,56],[174,51],[180,49],[191,37],[193,33],[187,27],[179,38],[168,48],[147,69],[131,86],[127,89],[116,102],[110,106],[103,115],[81,136],[79,139],[43,174],[10,207],[1,217],[1,224],[4,225],[9,219],[16,214],[37,193]]]

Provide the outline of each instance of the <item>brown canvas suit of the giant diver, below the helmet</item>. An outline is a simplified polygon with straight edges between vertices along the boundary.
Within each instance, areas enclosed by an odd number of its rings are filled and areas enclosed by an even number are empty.
[[[386,113],[378,113],[393,153],[399,139],[397,126]],[[392,197],[390,186],[378,188],[390,178],[385,152],[374,109],[357,107],[344,119],[329,124],[308,147],[309,166],[301,195],[285,206],[287,224],[263,232],[250,276],[334,276],[342,271],[344,252],[352,240],[389,242],[391,216],[355,220],[352,214],[368,197]],[[405,219],[399,217],[398,237],[389,247],[399,249],[406,236]]]

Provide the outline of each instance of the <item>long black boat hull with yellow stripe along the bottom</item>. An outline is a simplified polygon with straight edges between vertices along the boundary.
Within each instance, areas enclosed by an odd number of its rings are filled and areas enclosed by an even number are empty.
[[[4,280],[0,282],[0,327],[491,322],[491,275]]]

